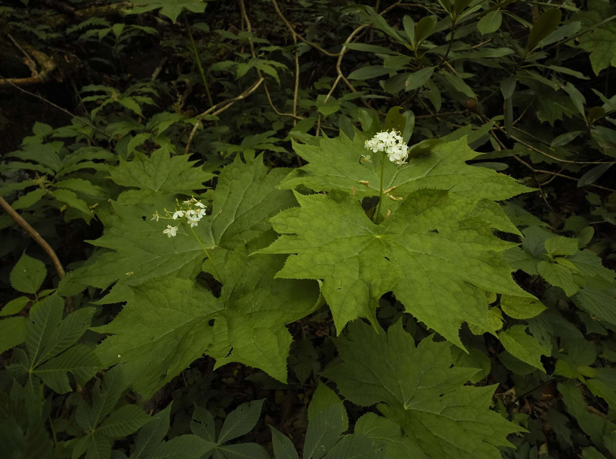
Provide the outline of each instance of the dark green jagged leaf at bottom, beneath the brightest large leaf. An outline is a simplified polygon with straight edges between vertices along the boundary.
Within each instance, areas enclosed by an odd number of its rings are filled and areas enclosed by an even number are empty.
[[[447,342],[428,337],[415,347],[401,321],[379,334],[354,322],[335,341],[344,363],[323,375],[355,404],[378,404],[427,457],[500,458],[496,447],[524,431],[488,408],[496,386],[464,386],[477,369],[453,367]]]

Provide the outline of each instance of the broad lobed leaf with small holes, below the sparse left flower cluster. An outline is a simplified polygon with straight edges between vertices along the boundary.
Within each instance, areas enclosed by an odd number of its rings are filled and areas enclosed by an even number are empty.
[[[221,297],[195,282],[159,278],[133,287],[134,296],[108,325],[97,349],[107,365],[122,362],[144,396],[208,354],[216,366],[241,362],[286,382],[291,335],[285,324],[314,310],[318,284],[275,279],[285,257],[256,255],[273,235],[229,252]]]

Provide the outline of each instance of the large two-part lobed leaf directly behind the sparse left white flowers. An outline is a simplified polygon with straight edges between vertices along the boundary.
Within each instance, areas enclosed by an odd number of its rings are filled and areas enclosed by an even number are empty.
[[[282,168],[268,172],[261,156],[248,164],[236,159],[224,168],[213,193],[212,214],[195,227],[217,262],[224,263],[225,250],[269,229],[271,225],[267,220],[270,216],[295,204],[290,191],[276,188],[287,173],[288,169]],[[177,190],[168,183],[170,179],[168,177],[160,185],[161,190],[168,193]],[[190,186],[197,187],[200,182],[190,183]],[[163,207],[173,209],[174,198],[168,195],[144,201],[137,196],[136,203],[132,201],[134,197],[130,191],[124,192],[118,202],[111,203],[112,213],[99,214],[105,224],[105,233],[96,241],[89,242],[113,252],[103,253],[92,265],[69,273],[60,284],[61,292],[79,292],[85,285],[107,289],[115,282],[110,293],[100,300],[100,303],[108,304],[128,300],[132,296],[128,285],[140,285],[158,276],[188,279],[198,273],[205,255],[192,233],[180,225],[177,236],[169,239],[163,234],[163,222],[168,220],[151,220],[157,210],[161,212]]]

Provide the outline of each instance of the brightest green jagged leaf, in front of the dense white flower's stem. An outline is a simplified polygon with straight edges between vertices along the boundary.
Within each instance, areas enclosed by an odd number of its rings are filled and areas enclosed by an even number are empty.
[[[513,244],[469,215],[476,199],[415,191],[375,225],[349,194],[296,198],[301,207],[272,218],[283,235],[259,253],[293,254],[277,277],[323,279],[338,333],[359,317],[376,326],[378,300],[393,290],[408,313],[462,347],[462,322],[493,330],[487,299],[476,287],[533,298],[513,281],[500,253]]]

